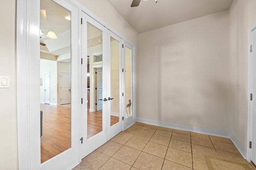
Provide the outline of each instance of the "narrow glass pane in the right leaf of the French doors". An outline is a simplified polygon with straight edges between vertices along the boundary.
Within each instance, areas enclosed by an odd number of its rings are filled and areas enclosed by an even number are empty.
[[[119,122],[119,74],[120,42],[110,37],[110,126]]]

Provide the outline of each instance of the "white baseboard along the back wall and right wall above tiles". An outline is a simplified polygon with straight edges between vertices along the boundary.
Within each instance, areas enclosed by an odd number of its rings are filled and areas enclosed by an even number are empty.
[[[207,128],[202,128],[202,127],[181,125],[181,124],[177,124],[177,123],[169,123],[169,122],[164,122],[164,121],[154,121],[154,120],[142,119],[142,118],[137,118],[136,121],[151,124],[151,125],[170,127],[173,129],[180,129],[180,130],[186,130],[186,131],[191,131],[191,132],[203,133],[206,135],[214,135],[214,136],[229,138],[232,140],[232,142],[234,143],[234,145],[236,146],[236,148],[238,149],[240,154],[246,159],[246,154],[247,154],[246,149],[236,139],[236,137],[230,132],[218,131],[218,130],[207,129]]]

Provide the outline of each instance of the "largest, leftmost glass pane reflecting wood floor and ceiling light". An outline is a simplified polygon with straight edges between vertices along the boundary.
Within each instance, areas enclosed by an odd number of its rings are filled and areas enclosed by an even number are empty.
[[[40,0],[41,163],[71,147],[70,12]]]

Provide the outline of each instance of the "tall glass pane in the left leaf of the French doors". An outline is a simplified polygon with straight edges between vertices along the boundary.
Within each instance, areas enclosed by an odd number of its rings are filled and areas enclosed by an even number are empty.
[[[89,139],[102,131],[103,92],[102,31],[90,23],[87,23],[87,51],[89,73],[87,74],[87,139]]]

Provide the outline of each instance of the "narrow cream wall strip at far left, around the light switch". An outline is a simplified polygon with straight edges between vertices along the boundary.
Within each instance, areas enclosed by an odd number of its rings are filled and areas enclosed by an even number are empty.
[[[2,1],[0,12],[0,76],[10,76],[10,88],[0,89],[0,169],[16,170],[16,0]]]

